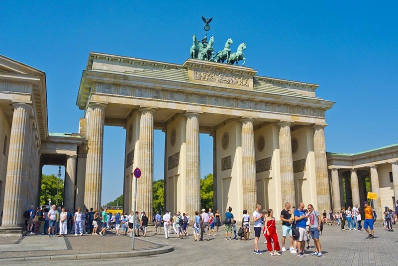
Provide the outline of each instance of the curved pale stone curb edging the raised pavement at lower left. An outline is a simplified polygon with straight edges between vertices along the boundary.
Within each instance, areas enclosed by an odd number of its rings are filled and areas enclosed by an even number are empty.
[[[158,255],[172,251],[174,251],[173,246],[164,246],[160,248],[154,248],[143,251],[123,251],[123,252],[109,252],[109,253],[67,254],[67,255],[50,255],[50,256],[36,256],[36,257],[23,257],[23,258],[7,258],[7,259],[0,259],[0,263],[30,262],[30,261],[37,262],[38,260],[64,261],[64,260],[120,259],[120,258]]]

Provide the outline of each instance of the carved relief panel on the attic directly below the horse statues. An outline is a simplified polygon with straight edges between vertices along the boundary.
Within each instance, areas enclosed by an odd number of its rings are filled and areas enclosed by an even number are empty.
[[[221,73],[218,71],[194,70],[194,79],[224,84],[249,86],[249,78],[246,76]]]

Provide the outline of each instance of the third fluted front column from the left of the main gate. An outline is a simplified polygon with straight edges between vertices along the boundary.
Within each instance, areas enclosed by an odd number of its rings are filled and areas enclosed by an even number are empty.
[[[200,210],[200,151],[199,117],[197,113],[187,113],[186,126],[186,209],[191,217]]]

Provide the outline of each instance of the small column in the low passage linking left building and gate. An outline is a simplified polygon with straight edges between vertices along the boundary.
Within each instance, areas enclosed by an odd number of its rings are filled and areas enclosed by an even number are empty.
[[[75,209],[76,155],[68,155],[65,171],[64,207]]]

